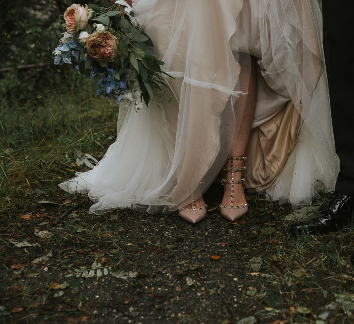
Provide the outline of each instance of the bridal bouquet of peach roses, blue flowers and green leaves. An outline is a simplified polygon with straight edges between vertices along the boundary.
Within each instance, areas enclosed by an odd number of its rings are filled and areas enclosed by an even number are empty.
[[[117,0],[108,8],[72,4],[64,13],[67,31],[53,54],[54,64],[72,64],[88,79],[96,78],[96,96],[138,110],[167,84],[164,62],[153,55],[152,40],[130,3]]]

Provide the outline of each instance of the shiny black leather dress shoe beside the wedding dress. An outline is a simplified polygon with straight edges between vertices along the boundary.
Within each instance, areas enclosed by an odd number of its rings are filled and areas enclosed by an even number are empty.
[[[291,234],[328,233],[337,231],[353,218],[354,199],[334,191],[311,216],[290,225]]]

